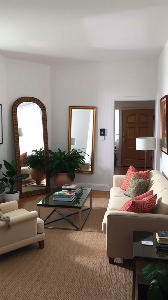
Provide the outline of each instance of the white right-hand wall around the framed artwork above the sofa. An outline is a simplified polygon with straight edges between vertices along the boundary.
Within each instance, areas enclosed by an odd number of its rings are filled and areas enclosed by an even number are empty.
[[[168,177],[168,155],[161,152],[160,144],[160,99],[168,95],[168,41],[164,46],[163,51],[159,57],[158,61],[158,101],[157,101],[157,115],[158,115],[158,124],[157,124],[157,146],[159,151],[157,152],[157,169],[160,170]],[[167,116],[168,117],[168,116]]]

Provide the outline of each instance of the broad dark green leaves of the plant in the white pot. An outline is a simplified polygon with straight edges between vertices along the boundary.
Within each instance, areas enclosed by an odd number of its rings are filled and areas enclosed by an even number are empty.
[[[11,161],[11,163],[9,163],[8,161],[4,161],[4,166],[6,168],[6,174],[2,172],[2,175],[4,177],[2,177],[0,179],[1,184],[0,184],[0,188],[2,188],[2,190],[0,189],[0,192],[3,193],[5,190],[5,187],[9,187],[10,192],[7,192],[9,194],[13,194],[14,193],[14,187],[15,184],[18,180],[22,180],[22,179],[26,179],[29,177],[28,174],[20,174],[19,176],[16,176],[16,163],[15,161]],[[0,164],[0,170],[2,168],[2,164]],[[2,185],[4,184],[4,185]]]

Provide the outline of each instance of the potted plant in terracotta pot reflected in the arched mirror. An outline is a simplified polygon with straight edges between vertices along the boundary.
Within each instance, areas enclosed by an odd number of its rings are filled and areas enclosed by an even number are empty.
[[[36,184],[40,184],[45,179],[45,157],[44,150],[32,150],[32,154],[24,158],[23,163],[25,167],[31,169],[31,177]]]

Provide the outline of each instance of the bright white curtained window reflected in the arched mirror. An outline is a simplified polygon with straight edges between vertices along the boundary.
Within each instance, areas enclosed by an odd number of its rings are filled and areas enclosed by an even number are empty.
[[[20,154],[22,154],[21,149],[28,155],[34,149],[39,150],[41,147],[44,149],[41,116],[41,108],[37,104],[17,108],[18,128],[23,130],[23,137],[19,138]]]

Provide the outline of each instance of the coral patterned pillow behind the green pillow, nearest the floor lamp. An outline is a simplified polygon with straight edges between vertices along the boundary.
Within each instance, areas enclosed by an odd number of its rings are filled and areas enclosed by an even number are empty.
[[[126,173],[126,177],[124,179],[123,184],[121,185],[121,189],[122,190],[127,190],[127,188],[129,187],[129,182],[132,178],[132,176],[134,174],[137,174],[141,179],[147,179],[148,175],[149,175],[150,170],[146,170],[146,171],[137,171],[137,169],[135,169],[134,167],[130,166],[127,173]]]

